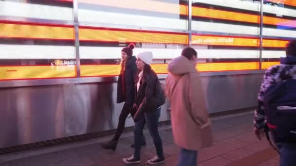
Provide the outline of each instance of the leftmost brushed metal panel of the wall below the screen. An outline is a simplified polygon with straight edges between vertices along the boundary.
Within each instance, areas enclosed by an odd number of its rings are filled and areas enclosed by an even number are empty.
[[[62,86],[0,89],[0,147],[64,137]]]

